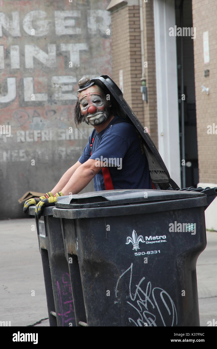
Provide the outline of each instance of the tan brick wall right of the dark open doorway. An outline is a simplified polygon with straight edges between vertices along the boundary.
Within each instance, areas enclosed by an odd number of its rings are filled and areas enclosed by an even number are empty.
[[[197,118],[197,147],[199,160],[199,181],[217,183],[217,134],[207,134],[207,126],[217,125],[217,31],[216,0],[192,0],[193,27],[196,27],[194,39],[194,74]],[[203,62],[203,32],[209,31],[209,64]],[[210,70],[210,76],[204,77],[204,70]],[[209,87],[209,95],[201,92],[201,85]],[[217,132],[217,130],[216,130]]]

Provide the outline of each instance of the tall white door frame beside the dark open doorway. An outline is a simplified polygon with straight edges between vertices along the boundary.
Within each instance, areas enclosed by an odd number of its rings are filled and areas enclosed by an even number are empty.
[[[158,151],[170,177],[180,187],[179,110],[175,0],[154,0]]]

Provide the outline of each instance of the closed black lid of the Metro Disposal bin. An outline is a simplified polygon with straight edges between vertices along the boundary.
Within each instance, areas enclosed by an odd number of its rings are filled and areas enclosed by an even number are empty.
[[[93,207],[117,206],[133,203],[147,203],[165,200],[183,200],[206,196],[200,192],[173,190],[104,190],[84,194],[57,197],[57,208],[83,209]],[[202,206],[202,205],[201,205]]]

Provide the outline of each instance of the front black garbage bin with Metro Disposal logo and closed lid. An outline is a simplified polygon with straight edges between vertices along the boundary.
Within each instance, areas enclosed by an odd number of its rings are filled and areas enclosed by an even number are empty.
[[[200,326],[196,261],[217,195],[112,190],[57,198],[76,324]],[[80,286],[82,285],[82,290]],[[82,320],[83,321],[83,320]]]

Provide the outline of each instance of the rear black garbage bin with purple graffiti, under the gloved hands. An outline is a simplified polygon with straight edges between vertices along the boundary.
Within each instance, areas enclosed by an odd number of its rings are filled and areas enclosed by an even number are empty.
[[[35,206],[29,208],[35,215]],[[60,219],[46,207],[36,227],[45,280],[50,326],[76,326],[68,262],[65,259]]]

